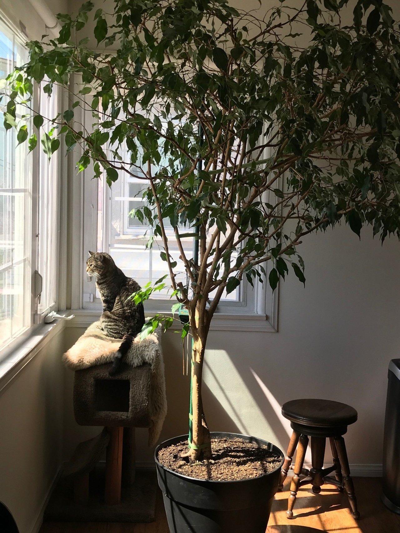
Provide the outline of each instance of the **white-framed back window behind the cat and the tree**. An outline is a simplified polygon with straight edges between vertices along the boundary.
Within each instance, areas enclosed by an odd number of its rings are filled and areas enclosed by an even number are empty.
[[[79,113],[79,115],[78,115]],[[75,117],[88,131],[93,124],[92,110],[76,109]],[[123,153],[120,154],[126,159]],[[267,156],[266,156],[267,157]],[[79,158],[75,154],[74,160]],[[137,171],[136,171],[137,173]],[[148,281],[155,281],[167,274],[167,266],[161,260],[159,252],[163,250],[162,240],[154,239],[153,249],[146,247],[151,235],[146,221],[140,222],[132,215],[132,209],[143,204],[142,190],[147,187],[147,181],[119,172],[118,180],[109,188],[101,177],[93,180],[93,169],[89,166],[79,174],[79,187],[74,193],[74,205],[81,202],[83,208],[82,229],[74,233],[74,243],[80,247],[81,254],[76,256],[74,264],[81,276],[81,285],[74,284],[72,295],[72,309],[81,309],[82,324],[93,321],[93,316],[101,312],[100,294],[95,287],[95,279],[87,276],[85,262],[89,250],[108,252],[113,256],[116,264],[127,276],[136,279],[141,286]],[[165,221],[166,225],[169,221]],[[77,223],[78,224],[78,223]],[[173,238],[172,228],[171,255],[178,261],[177,245]],[[193,257],[192,238],[183,239],[187,257]],[[74,246],[74,245],[73,245]],[[272,265],[267,265],[268,269]],[[182,263],[177,265],[175,272],[180,273],[180,281],[186,284],[186,273]],[[277,296],[274,295],[267,282],[263,285],[254,284],[254,290],[244,280],[237,290],[224,298],[218,305],[217,314],[213,319],[212,328],[222,330],[245,331],[276,331],[277,328]],[[146,302],[146,313],[170,312],[170,292],[157,293],[154,298]],[[85,322],[85,320],[87,320]]]

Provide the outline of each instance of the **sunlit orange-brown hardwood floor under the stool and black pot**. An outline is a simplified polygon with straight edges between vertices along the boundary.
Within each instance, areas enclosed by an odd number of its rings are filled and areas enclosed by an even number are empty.
[[[327,485],[322,487],[321,494],[313,494],[310,486],[301,487],[294,506],[294,519],[287,520],[290,474],[284,490],[275,497],[266,533],[400,533],[400,515],[388,511],[380,501],[380,478],[354,478],[362,517],[359,522],[349,512],[346,493]],[[47,522],[40,533],[169,533],[169,529],[159,495],[157,519],[150,524]]]

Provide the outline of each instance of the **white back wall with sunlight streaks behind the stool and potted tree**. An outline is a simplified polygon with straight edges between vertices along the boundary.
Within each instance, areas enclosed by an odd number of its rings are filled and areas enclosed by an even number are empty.
[[[282,403],[307,397],[342,401],[358,411],[358,422],[346,435],[350,464],[356,471],[379,471],[387,367],[400,352],[400,244],[393,238],[381,246],[370,228],[359,241],[348,227],[304,240],[306,287],[294,275],[281,282],[278,333],[210,333],[207,422],[211,430],[249,433],[285,450],[291,430],[282,418]],[[82,332],[66,328],[66,348]],[[166,439],[187,432],[189,381],[182,376],[178,335],[167,332],[163,347]],[[77,442],[98,430],[76,425],[73,373],[65,372],[65,450],[70,455]],[[145,437],[138,431],[139,462],[151,461]]]

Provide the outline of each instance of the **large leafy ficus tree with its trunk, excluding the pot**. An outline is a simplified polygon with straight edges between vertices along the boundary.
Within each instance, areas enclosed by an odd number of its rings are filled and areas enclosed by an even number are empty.
[[[89,17],[95,49],[79,37]],[[399,26],[381,0],[279,0],[250,12],[227,0],[114,0],[112,12],[85,2],[58,19],[59,37],[28,43],[28,63],[9,76],[4,126],[29,149],[41,135],[49,157],[63,140],[78,171],[93,168],[110,187],[121,172],[144,180],[135,216],[162,243],[171,294],[189,311],[182,336],[193,336],[188,457],[209,458],[202,368],[223,293],[242,280],[275,289],[291,270],[304,282],[298,245],[335,224],[400,235]],[[65,88],[71,107],[31,119],[35,84]],[[19,105],[28,111],[17,120]],[[77,107],[91,108],[91,131]],[[161,321],[172,318],[147,331]]]

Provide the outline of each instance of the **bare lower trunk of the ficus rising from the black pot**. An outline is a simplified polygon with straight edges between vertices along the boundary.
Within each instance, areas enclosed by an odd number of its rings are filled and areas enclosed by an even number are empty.
[[[209,325],[201,325],[192,330],[193,350],[191,354],[191,386],[193,435],[189,443],[187,456],[191,463],[211,458],[211,438],[207,427],[202,401],[202,374],[205,344],[209,333]]]

